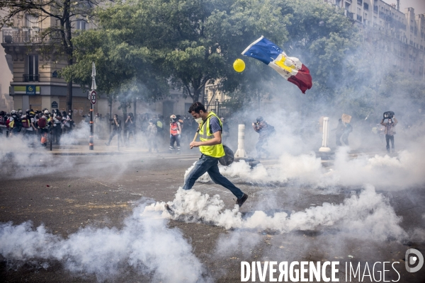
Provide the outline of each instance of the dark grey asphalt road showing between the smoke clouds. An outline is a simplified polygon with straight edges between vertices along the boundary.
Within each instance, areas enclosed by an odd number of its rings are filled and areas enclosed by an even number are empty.
[[[125,219],[144,203],[174,200],[183,184],[183,175],[198,155],[181,156],[9,156],[0,171],[0,223],[18,225],[32,221],[33,229],[44,225],[48,233],[67,239],[84,227],[123,229]],[[28,159],[28,160],[27,160]],[[19,160],[13,161],[13,160]],[[40,161],[39,161],[40,160]],[[28,161],[28,162],[27,162]],[[19,165],[19,166],[18,166]],[[361,187],[324,190],[286,184],[254,184],[232,179],[249,200],[241,209],[244,218],[256,210],[300,212],[322,203],[340,204],[361,192]],[[233,195],[212,183],[196,183],[195,190],[219,194],[227,209],[234,206]],[[423,187],[398,192],[379,192],[387,197],[399,226],[412,232],[424,228],[425,192]],[[370,212],[373,214],[374,212]],[[379,223],[376,224],[377,226]],[[399,262],[386,267],[386,280],[425,282],[425,267],[409,273],[404,268],[404,253],[416,248],[425,254],[424,239],[397,241],[375,239],[346,233],[341,225],[317,226],[314,230],[295,229],[288,233],[254,229],[225,229],[202,221],[167,220],[167,229],[178,229],[191,246],[191,253],[203,265],[200,280],[241,282],[241,261],[339,261],[339,282],[346,282],[346,262],[358,264]],[[387,227],[387,229],[392,229]],[[413,240],[412,240],[413,239]],[[169,248],[168,243],[155,242],[154,250]],[[167,246],[168,245],[168,246]],[[166,260],[164,260],[166,261]],[[0,255],[1,282],[97,282],[95,273],[70,271],[60,260],[47,259],[13,262]],[[382,270],[382,267],[379,267]],[[379,269],[378,268],[378,269]],[[141,271],[142,270],[142,271]],[[172,270],[172,267],[171,267]],[[377,270],[375,270],[376,274]],[[259,278],[257,277],[257,282]],[[106,282],[161,282],[152,270],[120,265],[113,276],[100,278]],[[177,281],[177,280],[176,280]],[[251,282],[251,279],[249,280]],[[268,282],[268,279],[266,279]],[[350,282],[350,281],[348,281]],[[351,282],[361,282],[358,278]],[[365,277],[363,282],[371,282]],[[373,282],[373,281],[372,281]]]

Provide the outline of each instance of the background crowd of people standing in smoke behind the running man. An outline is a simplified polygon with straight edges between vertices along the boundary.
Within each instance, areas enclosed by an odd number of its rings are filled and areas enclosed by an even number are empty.
[[[392,112],[391,112],[392,113]],[[419,115],[421,110],[419,110]],[[84,122],[89,123],[90,114],[83,116]],[[145,113],[135,117],[131,112],[123,119],[123,124],[118,115],[102,116],[96,113],[94,116],[95,134],[97,137],[106,138],[106,145],[111,144],[112,139],[117,136],[118,142],[122,146],[128,146],[130,139],[137,143],[137,137],[145,137],[149,152],[159,152],[159,148],[164,148],[169,140],[169,153],[180,154],[181,144],[190,144],[198,129],[198,122],[191,115],[171,115],[169,117],[169,127],[166,125],[163,115]],[[378,134],[381,141],[386,142],[386,149],[389,153],[395,152],[395,126],[398,121],[391,116],[387,122],[383,119],[380,124],[372,127],[372,133]],[[229,137],[229,125],[224,117],[220,118],[222,122],[222,142],[226,144]],[[72,110],[69,112],[54,109],[49,111],[27,109],[12,110],[10,113],[0,111],[0,134],[6,137],[22,135],[32,144],[47,146],[47,141],[52,144],[60,144],[63,134],[73,131],[76,123],[72,118]],[[259,133],[259,140],[256,143],[256,158],[270,156],[265,149],[269,137],[276,133],[273,126],[269,125],[263,117],[257,117],[256,122],[252,123],[254,131]],[[409,127],[407,127],[409,129]],[[348,136],[353,131],[353,127],[348,122],[339,119],[335,129],[335,145],[349,146]],[[109,138],[107,138],[109,135]],[[384,139],[385,137],[385,139]],[[391,146],[390,146],[391,144]]]

